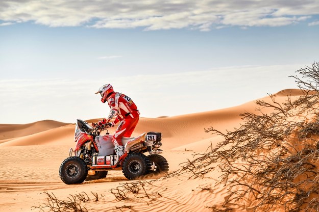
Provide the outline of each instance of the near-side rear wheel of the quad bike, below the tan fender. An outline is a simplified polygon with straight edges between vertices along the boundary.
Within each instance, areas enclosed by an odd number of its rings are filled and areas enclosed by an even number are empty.
[[[123,162],[122,171],[130,180],[142,177],[150,172],[152,163],[148,157],[141,153],[129,154]]]

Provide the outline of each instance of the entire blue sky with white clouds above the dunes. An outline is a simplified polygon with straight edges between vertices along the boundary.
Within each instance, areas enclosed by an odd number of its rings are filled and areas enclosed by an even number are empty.
[[[319,62],[319,0],[0,2],[0,123],[104,118],[104,84],[141,117],[234,107]]]

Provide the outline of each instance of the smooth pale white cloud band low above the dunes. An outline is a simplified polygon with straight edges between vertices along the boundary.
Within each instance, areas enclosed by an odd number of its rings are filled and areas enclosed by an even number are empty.
[[[108,115],[109,108],[94,93],[106,83],[111,83],[115,91],[130,96],[142,117],[233,107],[267,93],[297,87],[288,76],[303,67],[226,67],[185,73],[108,76],[107,81],[102,77],[95,80],[0,80],[0,123],[103,118]]]

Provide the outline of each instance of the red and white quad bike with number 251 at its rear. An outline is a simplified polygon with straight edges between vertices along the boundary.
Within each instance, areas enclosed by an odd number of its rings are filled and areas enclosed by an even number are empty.
[[[122,170],[125,177],[134,180],[148,174],[168,172],[166,159],[159,155],[162,150],[161,133],[143,133],[134,138],[122,138],[125,153],[114,153],[112,135],[100,136],[108,127],[77,120],[75,130],[75,150],[70,148],[60,166],[60,178],[66,184],[82,183],[84,180],[105,178],[108,170]],[[107,129],[106,129],[107,130]],[[149,152],[149,155],[143,153]],[[73,155],[74,154],[74,155]],[[73,155],[73,156],[72,156]]]

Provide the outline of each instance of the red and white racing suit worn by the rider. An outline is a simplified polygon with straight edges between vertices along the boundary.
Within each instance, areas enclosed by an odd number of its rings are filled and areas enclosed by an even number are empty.
[[[115,117],[114,124],[120,121],[112,137],[114,146],[122,146],[122,137],[130,138],[139,120],[139,111],[133,100],[125,94],[114,92],[108,98],[110,114],[106,118],[109,122]]]

